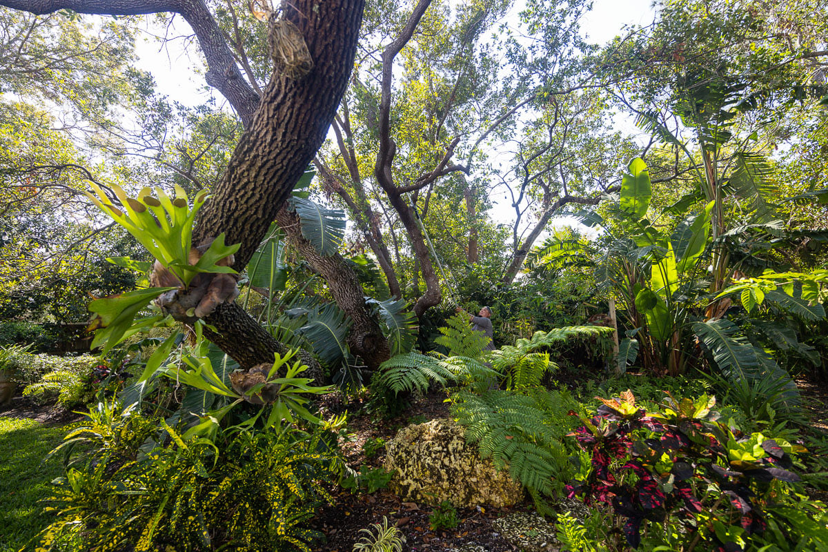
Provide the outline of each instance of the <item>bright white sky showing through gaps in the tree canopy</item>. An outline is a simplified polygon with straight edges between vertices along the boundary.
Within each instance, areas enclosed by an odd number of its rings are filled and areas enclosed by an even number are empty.
[[[582,28],[586,38],[593,43],[604,44],[614,36],[623,32],[626,26],[647,25],[655,17],[652,0],[594,0],[592,11],[587,14]],[[172,28],[169,36],[187,35],[190,30],[184,22],[177,20],[181,31]],[[161,94],[166,94],[171,100],[196,106],[205,103],[209,98],[215,98],[219,105],[225,104],[220,94],[205,86],[204,77],[192,71],[181,70],[184,67],[201,67],[202,60],[196,59],[197,48],[191,47],[190,54],[181,45],[183,39],[172,41],[166,47],[160,48],[159,42],[151,36],[146,40],[138,41],[137,55],[142,60],[142,69],[149,70],[156,79]],[[180,46],[181,45],[181,46]],[[635,133],[636,129],[629,118],[614,118],[614,127],[624,132]],[[496,221],[506,222],[514,216],[512,207],[506,204],[495,203],[490,213]],[[593,233],[590,228],[581,226],[573,218],[557,218],[555,226],[577,226],[582,232]],[[546,238],[543,235],[538,243]]]

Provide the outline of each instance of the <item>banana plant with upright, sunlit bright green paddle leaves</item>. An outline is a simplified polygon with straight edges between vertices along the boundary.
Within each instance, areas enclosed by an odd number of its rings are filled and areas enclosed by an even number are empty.
[[[630,335],[619,344],[619,366],[640,352],[645,365],[675,375],[684,371],[691,349],[688,330],[705,271],[700,259],[710,241],[714,202],[666,235],[647,219],[651,197],[647,164],[633,159],[622,176],[618,204],[609,206],[611,224],[597,214],[590,218],[623,232],[598,263],[599,280],[618,295],[633,334],[638,332],[637,339]]]

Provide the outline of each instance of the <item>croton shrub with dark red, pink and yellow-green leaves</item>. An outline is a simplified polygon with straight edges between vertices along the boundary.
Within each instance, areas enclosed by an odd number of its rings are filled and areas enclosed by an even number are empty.
[[[580,416],[585,452],[570,497],[609,508],[628,545],[671,550],[824,550],[825,505],[798,492],[790,471],[805,452],[718,422],[715,398],[668,395],[658,410],[629,391]]]

